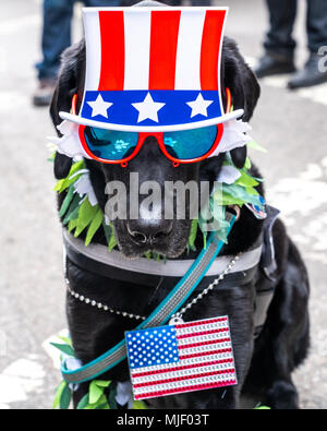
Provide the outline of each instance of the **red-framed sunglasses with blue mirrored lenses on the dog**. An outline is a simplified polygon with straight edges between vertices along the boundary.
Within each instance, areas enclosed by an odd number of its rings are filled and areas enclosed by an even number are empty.
[[[231,95],[227,94],[227,112],[231,109]],[[72,111],[76,110],[76,95],[73,98]],[[209,157],[218,147],[223,133],[223,124],[209,125],[177,132],[137,133],[98,129],[80,125],[78,135],[86,154],[100,163],[120,164],[126,167],[143,147],[149,136],[154,136],[164,153],[174,167],[180,164],[201,161]]]

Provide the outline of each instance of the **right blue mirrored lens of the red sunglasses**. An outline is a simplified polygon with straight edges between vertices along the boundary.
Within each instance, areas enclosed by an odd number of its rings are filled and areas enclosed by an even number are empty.
[[[164,133],[167,152],[181,160],[203,157],[211,149],[216,137],[217,125]]]

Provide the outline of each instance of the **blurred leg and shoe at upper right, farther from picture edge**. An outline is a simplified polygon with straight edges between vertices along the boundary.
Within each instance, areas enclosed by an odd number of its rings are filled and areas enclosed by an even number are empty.
[[[292,73],[295,40],[292,37],[296,0],[267,0],[270,27],[264,43],[265,55],[255,68],[258,77]]]

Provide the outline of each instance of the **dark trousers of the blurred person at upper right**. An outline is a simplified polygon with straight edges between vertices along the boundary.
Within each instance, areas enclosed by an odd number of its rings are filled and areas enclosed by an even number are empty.
[[[327,0],[307,0],[306,33],[311,52],[327,46]],[[265,40],[267,51],[292,57],[295,40],[292,37],[298,0],[267,0],[270,28]]]

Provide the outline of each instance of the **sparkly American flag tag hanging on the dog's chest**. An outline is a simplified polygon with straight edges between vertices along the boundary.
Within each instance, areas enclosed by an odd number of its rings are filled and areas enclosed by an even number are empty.
[[[125,333],[134,399],[238,384],[228,316]]]

